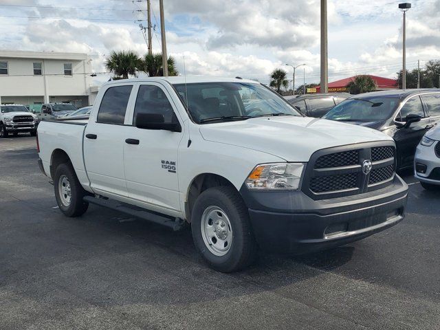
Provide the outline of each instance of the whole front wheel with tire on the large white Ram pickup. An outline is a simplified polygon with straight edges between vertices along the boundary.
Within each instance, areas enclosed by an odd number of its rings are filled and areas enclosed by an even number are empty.
[[[197,250],[214,270],[235,272],[255,259],[248,209],[232,187],[208,188],[197,197],[191,231]]]

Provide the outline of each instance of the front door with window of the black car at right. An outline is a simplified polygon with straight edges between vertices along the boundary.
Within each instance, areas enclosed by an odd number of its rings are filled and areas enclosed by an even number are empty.
[[[409,113],[417,113],[422,116],[420,122],[412,123],[408,128],[396,131],[394,139],[397,146],[397,162],[400,168],[412,167],[415,149],[423,135],[428,131],[430,119],[426,118],[419,96],[408,99],[401,108],[399,118],[405,118]]]

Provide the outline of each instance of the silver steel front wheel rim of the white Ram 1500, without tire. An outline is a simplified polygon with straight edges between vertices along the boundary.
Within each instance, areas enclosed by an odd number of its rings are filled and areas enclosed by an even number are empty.
[[[232,226],[228,215],[218,206],[210,206],[201,214],[201,236],[206,248],[216,256],[224,256],[232,245]]]

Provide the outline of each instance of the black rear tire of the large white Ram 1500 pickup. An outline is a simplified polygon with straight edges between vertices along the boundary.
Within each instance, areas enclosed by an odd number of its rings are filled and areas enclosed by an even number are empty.
[[[70,188],[70,202],[63,203],[63,197],[60,195],[60,178],[67,178]],[[83,201],[83,197],[89,195],[87,191],[83,189],[76,177],[75,170],[72,164],[60,164],[55,170],[54,175],[54,190],[56,203],[61,212],[63,212],[67,217],[79,217],[84,214],[89,207],[89,203]]]

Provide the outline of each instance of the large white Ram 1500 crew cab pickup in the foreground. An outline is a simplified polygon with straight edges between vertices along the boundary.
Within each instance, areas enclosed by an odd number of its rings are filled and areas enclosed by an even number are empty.
[[[391,137],[306,118],[252,80],[103,85],[88,120],[43,121],[39,165],[68,217],[89,203],[179,229],[233,272],[257,250],[303,253],[404,218]]]

